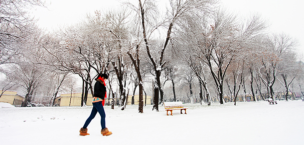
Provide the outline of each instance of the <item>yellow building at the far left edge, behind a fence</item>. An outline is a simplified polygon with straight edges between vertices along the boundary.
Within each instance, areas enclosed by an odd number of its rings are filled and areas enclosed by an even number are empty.
[[[0,93],[2,91],[0,90]],[[21,107],[22,102],[24,101],[24,97],[17,94],[15,91],[4,91],[0,98],[0,102],[9,103],[16,107]]]

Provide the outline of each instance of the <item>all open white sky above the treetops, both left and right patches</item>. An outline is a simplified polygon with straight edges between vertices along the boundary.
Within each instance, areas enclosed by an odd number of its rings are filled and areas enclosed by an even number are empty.
[[[77,23],[84,19],[87,13],[115,8],[120,4],[119,0],[46,1],[51,1],[48,10],[37,8],[33,14],[39,18],[38,25],[49,31],[59,26]],[[222,6],[239,15],[261,14],[271,24],[272,32],[284,32],[297,38],[300,43],[298,51],[304,54],[304,2],[302,0],[221,0],[221,2]]]

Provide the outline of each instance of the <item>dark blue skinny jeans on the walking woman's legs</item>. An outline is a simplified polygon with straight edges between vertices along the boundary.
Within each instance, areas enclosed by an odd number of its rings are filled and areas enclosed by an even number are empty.
[[[106,113],[105,113],[104,106],[102,105],[102,101],[92,103],[92,104],[93,104],[93,109],[92,109],[91,115],[87,119],[86,123],[83,125],[83,128],[86,129],[88,127],[88,125],[90,124],[90,122],[96,116],[96,114],[98,112],[101,116],[101,121],[100,121],[101,129],[105,129],[106,128]]]

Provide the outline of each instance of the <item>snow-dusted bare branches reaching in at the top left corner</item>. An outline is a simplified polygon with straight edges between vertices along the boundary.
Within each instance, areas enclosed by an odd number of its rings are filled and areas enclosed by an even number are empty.
[[[0,1],[0,65],[11,61],[23,50],[23,43],[36,29],[28,11],[35,5],[43,6],[41,0]]]

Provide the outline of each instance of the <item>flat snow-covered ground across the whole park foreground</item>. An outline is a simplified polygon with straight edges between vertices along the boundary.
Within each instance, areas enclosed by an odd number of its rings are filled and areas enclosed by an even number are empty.
[[[92,107],[1,106],[0,145],[304,145],[301,100],[185,104],[187,114],[173,116],[163,106],[146,106],[143,114],[138,106],[105,106],[108,137],[100,134],[99,115],[88,126],[91,135],[79,136]]]

